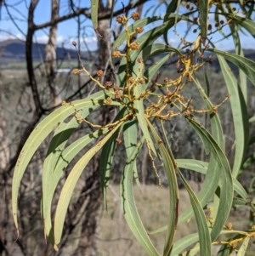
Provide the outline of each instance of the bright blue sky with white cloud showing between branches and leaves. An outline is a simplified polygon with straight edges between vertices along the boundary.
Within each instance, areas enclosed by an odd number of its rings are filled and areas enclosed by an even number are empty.
[[[15,9],[9,8],[9,11],[14,15],[15,18],[17,18],[16,22],[17,25],[20,27],[20,30],[23,31],[26,34],[26,2],[30,1],[21,1],[19,5],[15,6]],[[61,8],[59,11],[59,15],[66,14],[68,12],[68,0],[60,0]],[[75,1],[74,1],[75,2]],[[79,1],[75,2],[78,3]],[[82,7],[89,7],[90,1],[89,0],[83,0],[80,1],[82,4]],[[118,0],[116,2],[115,9],[120,9],[122,7],[122,3],[127,3],[127,0]],[[135,1],[133,1],[135,2]],[[151,16],[156,9],[156,6],[159,5],[159,0],[150,0],[148,3],[144,4],[144,11],[143,14],[146,14],[146,16]],[[7,3],[9,5],[12,5],[14,3],[18,3],[17,0],[8,0]],[[165,5],[161,5],[157,10],[156,14],[164,14],[166,11]],[[186,9],[181,9],[182,12],[186,11]],[[0,30],[7,31],[3,32],[0,31],[0,40],[8,39],[10,38],[10,35],[8,35],[8,32],[13,34],[15,37],[19,37],[21,39],[24,39],[24,35],[22,35],[21,31],[19,31],[16,26],[14,26],[13,22],[8,19],[7,10],[3,7],[2,8],[2,15],[0,20]],[[35,12],[35,23],[36,24],[42,24],[44,22],[47,22],[50,20],[50,0],[40,0],[37,9]],[[84,30],[82,31],[82,45],[85,41],[88,45],[88,48],[91,50],[94,50],[97,45],[97,37],[95,35],[95,32],[93,30],[91,20],[85,20],[83,17],[81,19],[82,21],[82,27],[84,27]],[[214,24],[214,20],[212,15],[209,16],[209,22]],[[150,29],[151,27],[155,26],[150,25],[146,27],[145,29]],[[113,25],[111,29],[115,29],[116,24],[113,22]],[[197,34],[194,34],[192,31],[195,29],[195,27],[190,28],[190,32],[188,33],[188,41],[192,41],[195,39],[195,36]],[[185,34],[185,31],[187,31],[187,24],[185,22],[179,22],[177,26],[178,34],[182,37]],[[225,31],[226,34],[228,31]],[[37,43],[46,43],[48,36],[48,29],[45,29],[43,31],[37,31],[36,37],[34,38],[34,41],[37,41]],[[254,38],[249,36],[249,34],[244,31],[244,33],[241,33],[241,42],[244,48],[255,48]],[[65,43],[66,48],[71,48],[71,42],[77,41],[77,20],[67,20],[64,22],[59,23],[58,27],[58,39],[57,43],[61,45],[62,43]],[[218,42],[222,38],[222,35],[220,33],[213,34],[212,41]],[[173,45],[173,47],[177,47],[178,43],[180,42],[179,37],[174,33],[173,29],[168,32],[168,39],[169,43]],[[84,40],[84,41],[83,41]],[[234,48],[234,43],[229,37],[228,40],[224,40],[222,42],[216,43],[216,46],[220,49],[224,50],[230,50]]]

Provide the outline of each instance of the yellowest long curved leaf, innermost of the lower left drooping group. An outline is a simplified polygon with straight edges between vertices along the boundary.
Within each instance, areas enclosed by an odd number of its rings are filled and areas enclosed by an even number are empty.
[[[101,139],[84,156],[82,156],[82,158],[75,164],[74,168],[72,168],[71,173],[65,180],[65,184],[59,196],[59,202],[56,208],[54,218],[54,237],[56,244],[59,244],[60,242],[65,222],[65,215],[71,200],[71,195],[75,188],[75,185],[77,185],[77,181],[80,178],[82,171],[84,170],[84,168],[86,168],[91,158],[102,148],[103,145],[105,145],[105,142],[111,138],[112,134],[114,134],[121,125],[122,122],[116,124],[116,127],[113,128],[111,132],[105,135],[103,139]]]

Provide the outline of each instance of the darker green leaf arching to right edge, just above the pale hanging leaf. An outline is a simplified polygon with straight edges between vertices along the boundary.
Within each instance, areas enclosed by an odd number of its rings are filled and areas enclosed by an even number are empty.
[[[236,65],[238,68],[240,68],[246,76],[250,79],[250,81],[255,85],[255,62],[247,59],[245,57],[239,56],[237,54],[223,52],[218,50],[217,48],[210,48],[208,51],[218,54],[224,59],[229,60],[234,65]]]

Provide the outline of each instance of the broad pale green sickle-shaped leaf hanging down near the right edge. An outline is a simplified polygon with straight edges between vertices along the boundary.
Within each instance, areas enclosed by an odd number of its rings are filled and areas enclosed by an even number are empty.
[[[249,122],[246,103],[241,93],[241,88],[233,73],[229,71],[229,65],[223,57],[218,56],[219,65],[224,76],[229,94],[230,104],[233,113],[235,126],[235,160],[232,169],[233,177],[237,177],[241,168],[241,163],[246,154],[249,139]]]

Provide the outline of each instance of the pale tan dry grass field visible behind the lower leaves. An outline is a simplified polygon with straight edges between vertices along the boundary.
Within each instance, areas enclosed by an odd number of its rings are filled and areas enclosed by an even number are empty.
[[[156,185],[142,186],[141,191],[134,186],[134,196],[144,227],[148,232],[156,230],[167,224],[168,216],[168,191]],[[108,213],[105,210],[101,213],[98,230],[98,256],[145,256],[144,249],[136,242],[129,230],[120,208],[119,188],[111,185],[108,190]],[[189,196],[186,191],[179,193],[179,212],[190,206]],[[232,214],[229,217],[236,230],[247,229],[249,218],[242,212]],[[190,219],[188,223],[178,225],[176,239],[187,236],[196,231],[195,220]],[[150,236],[151,241],[162,252],[165,232]],[[254,245],[250,246],[246,256],[252,256]],[[214,254],[214,253],[213,253]],[[233,254],[235,255],[235,254]]]

